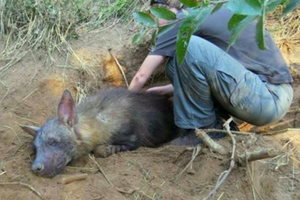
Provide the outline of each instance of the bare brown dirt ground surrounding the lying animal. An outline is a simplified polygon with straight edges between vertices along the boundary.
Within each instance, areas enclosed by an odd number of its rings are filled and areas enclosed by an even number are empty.
[[[221,156],[204,146],[192,167],[185,171],[193,150],[163,146],[96,158],[104,174],[89,156],[72,162],[62,175],[52,179],[37,177],[31,172],[32,137],[18,124],[44,123],[56,113],[64,89],[71,90],[79,101],[101,88],[124,86],[125,78],[131,80],[148,52],[146,46],[130,44],[132,35],[130,29],[118,25],[74,41],[75,54],[70,62],[61,55],[54,55],[56,63],[45,67],[42,53],[29,54],[0,74],[0,97],[3,97],[0,99],[0,199],[186,200],[203,199],[212,191],[220,174],[229,168],[230,154]],[[299,66],[295,65],[295,68]],[[158,70],[152,83],[165,81],[164,78],[164,73]],[[294,104],[282,125],[266,130],[299,127],[298,82],[294,87]],[[253,127],[250,129],[254,130]],[[266,147],[282,153],[271,159],[236,165],[216,199],[299,199],[300,132],[289,131],[276,132],[276,135],[236,136],[238,155]],[[230,138],[223,139],[220,144],[230,151]],[[62,183],[62,177],[77,173],[88,176],[84,180]]]

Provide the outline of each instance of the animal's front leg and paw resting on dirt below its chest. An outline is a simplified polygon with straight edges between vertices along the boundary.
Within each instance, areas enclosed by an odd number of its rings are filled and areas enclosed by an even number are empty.
[[[121,151],[134,150],[137,147],[135,144],[99,145],[93,152],[96,157],[105,158]]]

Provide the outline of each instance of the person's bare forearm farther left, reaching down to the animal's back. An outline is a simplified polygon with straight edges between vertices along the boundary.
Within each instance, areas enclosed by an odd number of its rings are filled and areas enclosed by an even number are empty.
[[[133,77],[128,89],[134,92],[140,91],[153,71],[163,63],[164,59],[165,57],[161,55],[148,55]]]

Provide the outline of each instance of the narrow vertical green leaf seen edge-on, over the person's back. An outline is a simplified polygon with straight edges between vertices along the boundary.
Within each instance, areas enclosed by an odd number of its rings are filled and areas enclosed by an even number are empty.
[[[256,43],[260,49],[266,49],[265,42],[265,16],[266,16],[266,6],[263,5],[262,15],[259,17],[258,23],[256,25]]]

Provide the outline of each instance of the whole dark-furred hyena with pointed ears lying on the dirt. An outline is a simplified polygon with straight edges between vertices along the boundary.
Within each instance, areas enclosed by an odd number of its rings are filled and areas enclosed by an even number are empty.
[[[56,175],[70,160],[91,151],[106,157],[140,146],[157,146],[177,134],[169,100],[122,88],[100,91],[77,107],[66,91],[57,118],[48,120],[41,128],[22,128],[37,132],[37,156],[32,168],[45,176]]]

